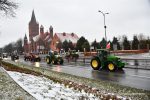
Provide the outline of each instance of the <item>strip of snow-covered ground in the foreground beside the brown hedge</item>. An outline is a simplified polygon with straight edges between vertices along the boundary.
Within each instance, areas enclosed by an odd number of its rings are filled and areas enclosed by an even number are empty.
[[[16,83],[37,100],[99,99],[92,94],[67,88],[63,84],[54,83],[52,80],[42,76],[33,76],[12,71],[7,71],[7,73],[16,81]]]

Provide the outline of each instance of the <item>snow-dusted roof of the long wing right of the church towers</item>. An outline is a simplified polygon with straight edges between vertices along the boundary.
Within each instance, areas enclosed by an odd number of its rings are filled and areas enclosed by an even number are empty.
[[[56,35],[61,42],[67,40],[68,42],[71,41],[72,43],[77,43],[79,39],[79,37],[75,33],[56,33]]]

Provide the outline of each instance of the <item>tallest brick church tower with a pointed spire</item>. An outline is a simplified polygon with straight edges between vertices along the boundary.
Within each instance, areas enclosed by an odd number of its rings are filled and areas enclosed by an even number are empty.
[[[39,23],[36,21],[34,10],[32,11],[31,20],[29,22],[29,40],[36,35],[39,35]]]

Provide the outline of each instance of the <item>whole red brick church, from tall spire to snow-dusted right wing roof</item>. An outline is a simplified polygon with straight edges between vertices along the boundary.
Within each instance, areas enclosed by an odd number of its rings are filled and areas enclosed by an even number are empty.
[[[55,33],[53,35],[53,27],[49,27],[49,31],[44,32],[44,27],[36,20],[34,10],[32,11],[31,20],[29,22],[29,40],[27,35],[24,37],[24,52],[38,52],[43,53],[47,52],[50,49],[56,50],[56,45],[58,42],[64,42],[67,40],[71,41],[74,45],[79,39],[75,33]]]

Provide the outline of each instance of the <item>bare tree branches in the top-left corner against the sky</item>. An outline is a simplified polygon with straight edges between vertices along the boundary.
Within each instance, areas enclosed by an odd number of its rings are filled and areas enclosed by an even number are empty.
[[[0,13],[5,15],[15,16],[15,10],[18,8],[18,4],[11,0],[0,0]]]

